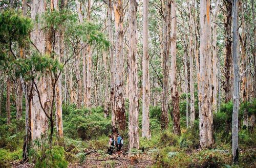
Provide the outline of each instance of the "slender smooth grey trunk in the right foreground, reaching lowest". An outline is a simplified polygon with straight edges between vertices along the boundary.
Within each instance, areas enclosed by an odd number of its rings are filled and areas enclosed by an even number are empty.
[[[233,0],[233,115],[232,115],[232,155],[233,163],[238,164],[238,112],[239,112],[239,55],[238,55],[238,32],[237,32],[237,16],[238,1]]]

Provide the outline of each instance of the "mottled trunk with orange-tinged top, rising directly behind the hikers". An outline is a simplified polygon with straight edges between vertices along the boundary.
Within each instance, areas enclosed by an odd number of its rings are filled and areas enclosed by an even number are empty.
[[[123,4],[121,0],[114,2],[115,15],[115,114],[118,129],[125,130],[124,109],[124,55],[123,55]]]

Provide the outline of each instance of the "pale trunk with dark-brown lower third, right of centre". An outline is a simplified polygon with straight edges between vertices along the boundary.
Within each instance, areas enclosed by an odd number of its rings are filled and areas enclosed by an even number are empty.
[[[175,134],[180,134],[180,108],[179,108],[179,92],[177,87],[177,67],[176,67],[176,27],[177,27],[177,18],[176,18],[176,1],[171,1],[171,33],[170,33],[170,54],[172,55],[171,60],[171,74],[170,74],[170,91],[172,92],[172,103],[173,103],[173,120],[174,127],[173,131]]]

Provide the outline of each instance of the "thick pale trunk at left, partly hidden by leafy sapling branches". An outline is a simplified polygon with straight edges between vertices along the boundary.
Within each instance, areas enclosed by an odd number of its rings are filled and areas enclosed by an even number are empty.
[[[37,15],[45,11],[44,0],[33,0],[31,4],[31,18],[35,19]],[[35,22],[34,30],[31,32],[31,41],[36,45],[41,53],[45,53],[45,34],[41,31],[40,25]],[[49,106],[47,76],[42,76],[39,80],[35,81],[40,92],[40,99],[42,104],[47,108]],[[49,95],[49,97],[51,97]],[[36,91],[33,91],[31,102],[31,137],[32,143],[35,139],[41,138],[48,130],[48,119],[44,110],[40,106],[39,97]]]

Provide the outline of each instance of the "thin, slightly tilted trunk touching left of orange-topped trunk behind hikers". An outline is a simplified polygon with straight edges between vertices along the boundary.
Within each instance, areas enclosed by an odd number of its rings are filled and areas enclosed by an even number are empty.
[[[113,30],[112,30],[112,4],[111,0],[108,1],[108,33],[109,33],[109,53],[110,53],[110,106],[111,106],[111,123],[112,133],[116,135],[116,114],[115,114],[115,59],[114,59],[114,42],[113,42]]]

